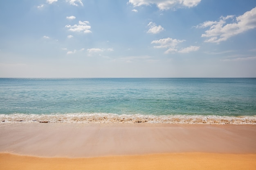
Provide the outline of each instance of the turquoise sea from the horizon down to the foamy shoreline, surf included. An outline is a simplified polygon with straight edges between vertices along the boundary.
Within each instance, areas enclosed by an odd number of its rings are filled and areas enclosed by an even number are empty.
[[[256,78],[0,78],[9,122],[256,124]]]

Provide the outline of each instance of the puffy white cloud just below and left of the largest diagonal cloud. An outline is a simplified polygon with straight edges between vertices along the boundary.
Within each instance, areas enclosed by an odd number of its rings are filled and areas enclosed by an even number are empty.
[[[172,38],[164,38],[164,39],[160,39],[160,40],[154,40],[151,42],[151,44],[159,44],[158,46],[154,46],[154,48],[156,49],[160,49],[160,48],[165,48],[167,49],[164,53],[168,54],[168,53],[189,53],[192,51],[198,51],[200,46],[189,46],[186,48],[182,48],[180,49],[179,47],[177,47],[177,45],[181,42],[184,42],[185,40],[177,40],[177,39],[172,39]]]

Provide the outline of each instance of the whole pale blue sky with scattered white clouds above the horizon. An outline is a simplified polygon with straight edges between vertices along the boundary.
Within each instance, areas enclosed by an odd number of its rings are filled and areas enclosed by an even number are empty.
[[[0,77],[256,77],[256,0],[1,0]]]

